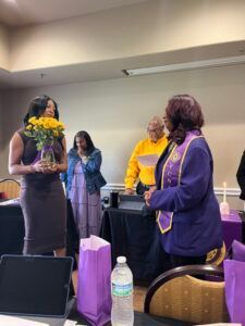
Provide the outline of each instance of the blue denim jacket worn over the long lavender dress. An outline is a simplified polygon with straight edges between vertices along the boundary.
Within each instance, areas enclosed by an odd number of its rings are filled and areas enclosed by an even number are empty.
[[[68,159],[68,173],[61,174],[61,180],[65,183],[66,192],[71,190],[74,168],[78,161],[81,161],[82,163],[82,168],[86,180],[86,187],[90,195],[98,191],[101,187],[103,187],[107,184],[107,181],[100,173],[102,156],[99,149],[94,149],[94,151],[89,154],[86,164],[81,160],[76,149],[74,148],[72,148],[69,151]]]

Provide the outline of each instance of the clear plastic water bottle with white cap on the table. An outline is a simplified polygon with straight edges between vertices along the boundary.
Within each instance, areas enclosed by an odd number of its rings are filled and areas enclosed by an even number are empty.
[[[125,256],[118,256],[111,273],[111,324],[112,326],[133,326],[133,275]]]

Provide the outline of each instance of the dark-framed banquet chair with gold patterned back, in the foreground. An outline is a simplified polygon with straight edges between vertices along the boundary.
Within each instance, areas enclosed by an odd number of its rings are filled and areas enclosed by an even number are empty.
[[[209,275],[209,280],[192,275]],[[212,265],[172,268],[148,288],[144,312],[193,324],[225,323],[229,314],[223,277],[223,269]]]

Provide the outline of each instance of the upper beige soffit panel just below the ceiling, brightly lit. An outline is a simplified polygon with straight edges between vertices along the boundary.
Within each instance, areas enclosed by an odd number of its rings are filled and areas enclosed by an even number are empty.
[[[244,40],[244,0],[152,0],[23,27],[11,35],[10,67],[17,72]]]

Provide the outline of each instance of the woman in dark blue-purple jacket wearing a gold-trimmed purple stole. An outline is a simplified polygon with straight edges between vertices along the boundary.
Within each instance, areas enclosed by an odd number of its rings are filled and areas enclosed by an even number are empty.
[[[223,239],[201,108],[188,95],[175,96],[164,118],[170,143],[157,163],[157,187],[146,192],[146,203],[158,211],[160,242],[170,266],[203,264]]]

